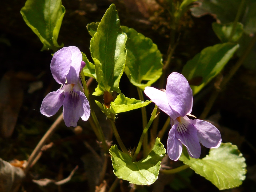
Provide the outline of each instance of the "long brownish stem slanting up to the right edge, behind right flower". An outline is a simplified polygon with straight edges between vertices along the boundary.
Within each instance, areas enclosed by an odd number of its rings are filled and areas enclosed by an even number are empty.
[[[227,85],[229,80],[234,76],[235,72],[239,69],[239,67],[243,64],[246,57],[249,55],[251,49],[253,48],[254,44],[256,43],[256,33],[254,34],[254,37],[252,38],[249,46],[243,53],[243,55],[238,59],[238,61],[235,63],[235,65],[231,68],[228,75],[223,78],[223,81],[220,85],[220,90],[224,89],[224,87]],[[216,98],[218,97],[219,91],[214,90],[213,94],[211,95],[209,101],[206,103],[205,109],[203,110],[200,119],[205,119],[208,115],[208,113],[211,110],[211,107],[213,106],[213,103],[215,102]]]

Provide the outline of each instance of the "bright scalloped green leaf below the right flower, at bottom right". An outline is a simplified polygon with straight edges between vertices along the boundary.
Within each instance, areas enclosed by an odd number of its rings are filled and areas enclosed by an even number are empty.
[[[231,143],[222,143],[220,147],[210,149],[209,155],[202,159],[191,158],[185,149],[179,160],[211,181],[219,190],[237,187],[245,180],[245,158]]]

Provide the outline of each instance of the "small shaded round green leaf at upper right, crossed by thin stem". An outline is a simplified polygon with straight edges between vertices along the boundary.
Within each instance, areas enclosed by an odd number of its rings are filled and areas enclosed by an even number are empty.
[[[221,40],[222,43],[229,42],[230,33],[233,28],[233,23],[228,24],[219,24],[216,22],[212,23],[213,31],[217,37]],[[235,33],[231,38],[231,42],[237,42],[243,35],[243,24],[237,23]]]

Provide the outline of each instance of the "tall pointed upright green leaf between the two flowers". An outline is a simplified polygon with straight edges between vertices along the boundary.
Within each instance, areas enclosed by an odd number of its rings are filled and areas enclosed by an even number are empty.
[[[123,74],[126,60],[125,42],[127,35],[120,27],[120,20],[115,5],[110,5],[104,14],[97,32],[91,38],[90,51],[95,64],[98,87],[95,95],[102,95],[119,89],[119,81]]]

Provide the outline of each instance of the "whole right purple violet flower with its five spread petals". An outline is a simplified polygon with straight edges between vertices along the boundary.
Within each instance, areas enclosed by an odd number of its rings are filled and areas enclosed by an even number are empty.
[[[215,126],[207,121],[187,117],[192,111],[193,93],[182,74],[174,72],[169,75],[166,91],[146,87],[144,93],[171,118],[172,128],[167,140],[167,153],[170,159],[179,159],[182,144],[193,158],[200,157],[200,143],[207,148],[219,147],[221,134]]]

